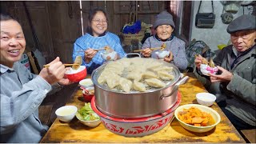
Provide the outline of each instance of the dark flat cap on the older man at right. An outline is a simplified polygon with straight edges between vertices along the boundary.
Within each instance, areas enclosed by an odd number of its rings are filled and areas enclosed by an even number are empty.
[[[230,22],[230,25],[227,26],[226,31],[232,34],[240,30],[255,30],[255,21],[256,17],[254,15],[244,14]]]

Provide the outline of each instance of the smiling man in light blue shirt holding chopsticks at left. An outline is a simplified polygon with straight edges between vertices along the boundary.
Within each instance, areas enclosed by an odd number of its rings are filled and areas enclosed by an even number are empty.
[[[38,106],[57,84],[71,82],[63,78],[66,69],[59,58],[40,74],[31,74],[18,60],[26,47],[22,26],[7,14],[0,14],[0,142],[39,142],[48,130],[38,118]]]

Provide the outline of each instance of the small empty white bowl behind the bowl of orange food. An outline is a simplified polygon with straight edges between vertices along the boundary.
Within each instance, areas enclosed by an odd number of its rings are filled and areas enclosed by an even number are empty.
[[[196,98],[198,103],[203,106],[212,106],[216,100],[215,95],[210,93],[198,93]]]

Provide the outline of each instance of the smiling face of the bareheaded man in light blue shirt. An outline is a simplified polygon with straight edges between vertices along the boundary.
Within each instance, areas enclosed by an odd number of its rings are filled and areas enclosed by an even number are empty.
[[[26,47],[22,26],[14,20],[1,21],[1,64],[12,67]]]

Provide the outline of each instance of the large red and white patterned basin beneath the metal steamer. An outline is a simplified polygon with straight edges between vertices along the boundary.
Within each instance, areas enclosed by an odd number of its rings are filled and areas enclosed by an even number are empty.
[[[95,97],[90,102],[91,108],[98,116],[100,116],[102,124],[107,130],[114,134],[119,134],[125,137],[142,137],[149,134],[154,134],[167,126],[174,118],[174,111],[182,101],[182,96],[178,92],[178,100],[173,107],[162,114],[157,114],[148,118],[114,118],[103,114],[95,105]]]

